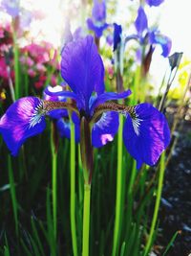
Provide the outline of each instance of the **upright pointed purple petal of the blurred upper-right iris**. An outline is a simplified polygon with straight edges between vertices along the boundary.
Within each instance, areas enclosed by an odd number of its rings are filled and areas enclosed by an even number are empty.
[[[148,20],[146,13],[144,12],[144,9],[140,6],[138,8],[138,16],[135,21],[136,30],[138,32],[138,35],[142,35],[144,30],[147,30],[148,28]]]

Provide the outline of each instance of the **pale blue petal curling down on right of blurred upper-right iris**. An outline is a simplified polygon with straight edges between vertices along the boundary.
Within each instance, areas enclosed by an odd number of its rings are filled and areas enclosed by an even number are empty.
[[[151,44],[159,44],[162,49],[161,55],[164,58],[168,57],[172,47],[172,41],[168,36],[161,35],[159,32],[154,31],[150,33],[149,40]]]

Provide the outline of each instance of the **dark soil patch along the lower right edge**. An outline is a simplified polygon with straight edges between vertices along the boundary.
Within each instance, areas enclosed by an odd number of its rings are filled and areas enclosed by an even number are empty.
[[[188,256],[191,253],[191,122],[183,123],[180,137],[167,166],[159,213],[159,227],[164,248],[180,233],[168,256]],[[191,255],[191,254],[190,254]]]

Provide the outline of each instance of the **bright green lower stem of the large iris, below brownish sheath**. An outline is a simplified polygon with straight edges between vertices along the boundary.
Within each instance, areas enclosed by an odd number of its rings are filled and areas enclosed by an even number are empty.
[[[84,184],[82,256],[89,256],[91,185]]]

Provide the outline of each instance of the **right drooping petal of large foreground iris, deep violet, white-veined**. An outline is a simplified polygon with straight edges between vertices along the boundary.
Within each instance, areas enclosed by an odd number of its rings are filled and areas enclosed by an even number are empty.
[[[137,105],[135,112],[135,118],[127,116],[123,141],[127,151],[137,160],[139,169],[143,163],[150,166],[157,163],[160,153],[170,142],[170,130],[164,115],[153,105]]]

